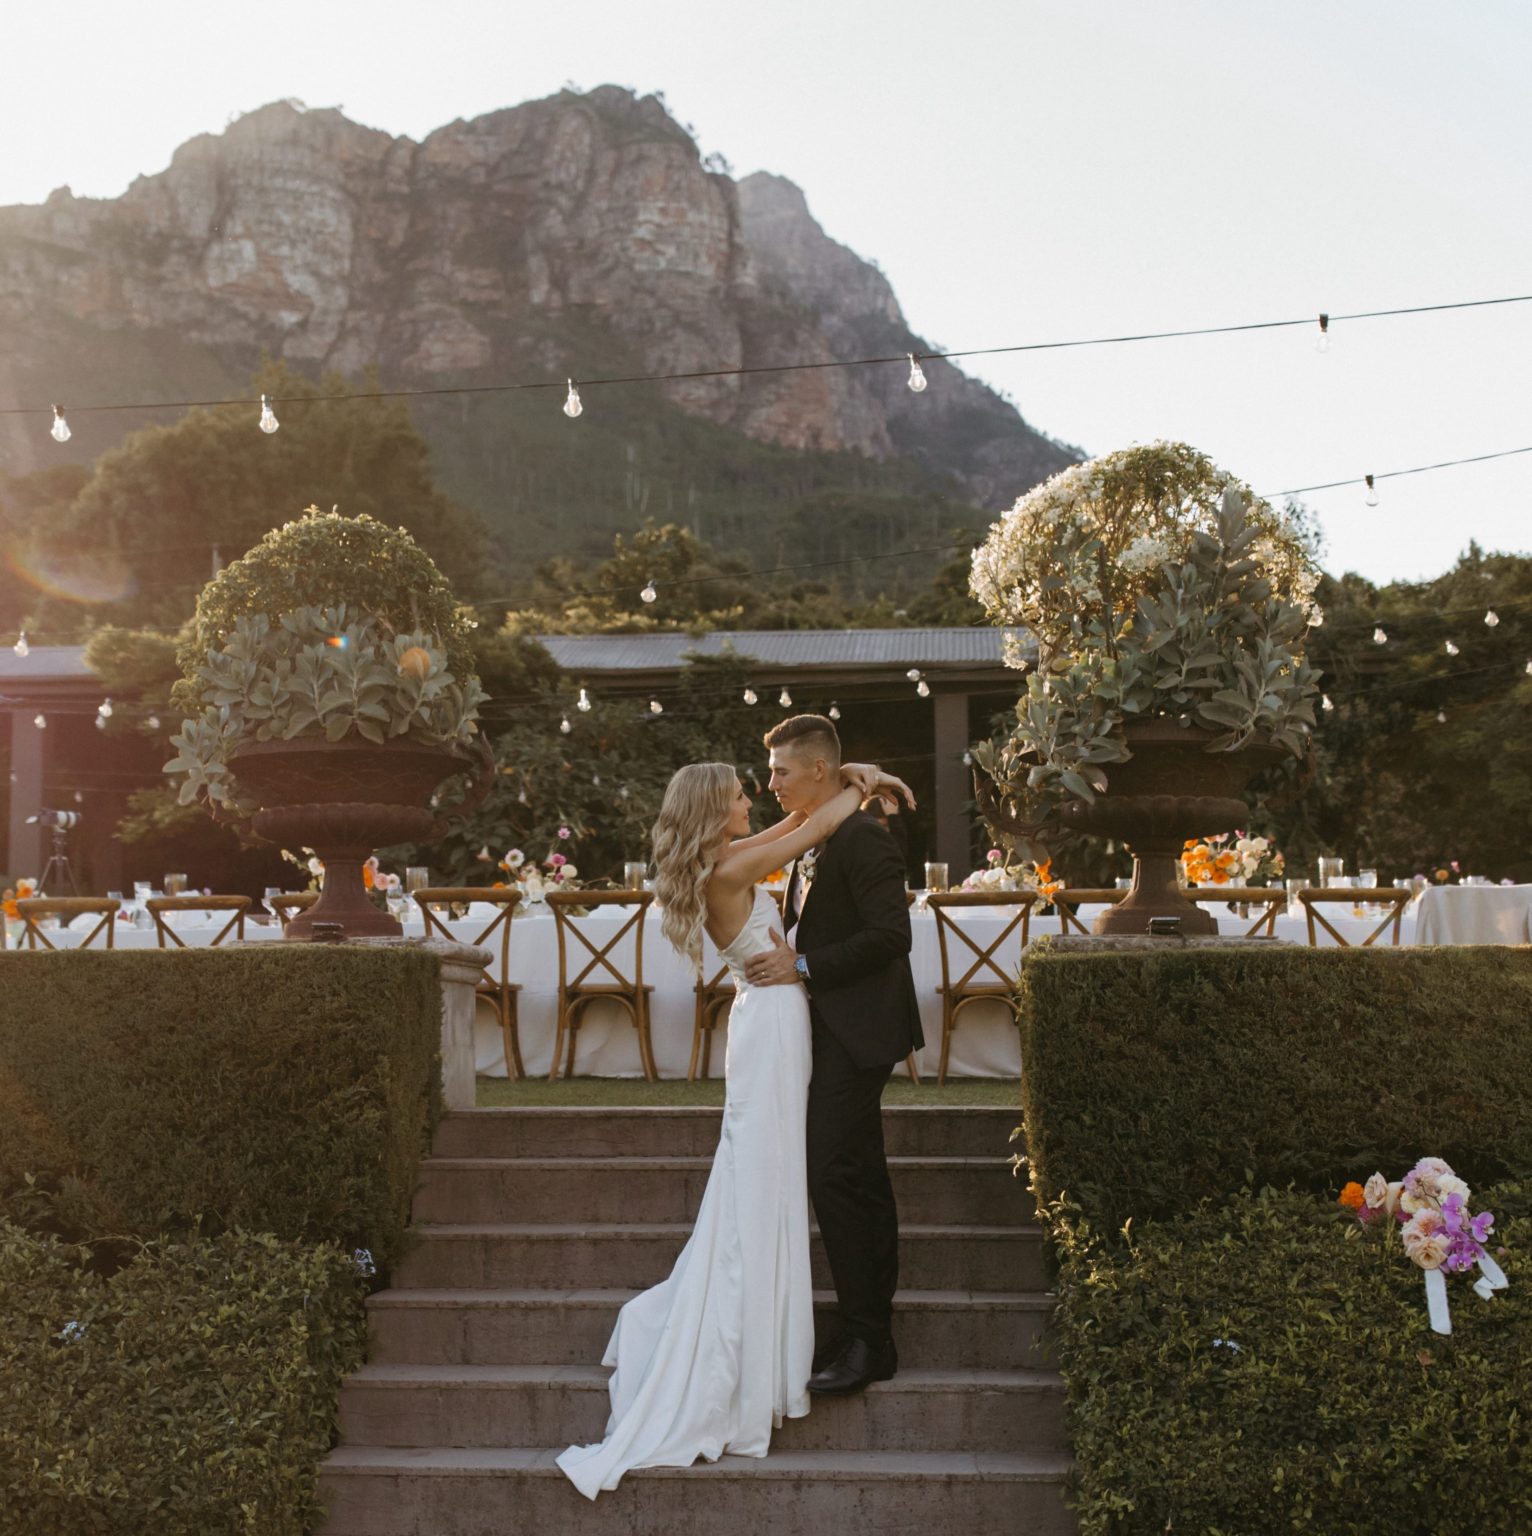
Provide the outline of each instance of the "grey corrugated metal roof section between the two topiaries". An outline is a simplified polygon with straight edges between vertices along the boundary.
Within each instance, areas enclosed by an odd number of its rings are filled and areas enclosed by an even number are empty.
[[[693,653],[747,656],[765,667],[1003,667],[1005,631],[733,630],[711,634],[539,634],[565,671],[656,671]]]

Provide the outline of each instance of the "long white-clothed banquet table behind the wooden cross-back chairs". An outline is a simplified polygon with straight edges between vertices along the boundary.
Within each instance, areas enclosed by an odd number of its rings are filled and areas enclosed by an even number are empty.
[[[1080,909],[1080,917],[1089,925],[1089,920],[1099,911],[1102,908],[1086,906]],[[1242,919],[1222,905],[1212,906],[1211,911],[1219,920],[1219,931],[1223,934],[1243,934],[1255,920],[1254,914]],[[489,905],[475,906],[466,917],[449,917],[446,928],[458,943],[473,943],[495,917],[495,912],[496,909]],[[627,915],[630,915],[628,909],[596,908],[582,922],[593,942],[599,946],[622,926]],[[1013,915],[1014,908],[991,906],[965,908],[959,914],[962,926],[973,934],[980,948],[991,943]],[[1337,915],[1334,911],[1326,915],[1329,915],[1340,934],[1351,943],[1361,943],[1378,923],[1378,917],[1375,915]],[[181,917],[181,922],[178,922],[177,931],[181,940],[191,946],[211,943],[214,934],[221,926],[220,923],[198,925],[187,922],[184,920],[186,914],[178,914],[178,917]],[[85,926],[81,925],[81,929]],[[922,1077],[930,1075],[934,1078],[942,1051],[942,1003],[937,992],[942,980],[942,962],[937,946],[936,919],[931,912],[924,911],[922,903],[917,902],[910,917],[910,968],[914,975],[916,995],[920,1001],[920,1020],[925,1029],[925,1048],[916,1052],[916,1066]],[[1277,938],[1294,945],[1308,943],[1308,929],[1302,914],[1280,914],[1275,929]],[[1031,938],[1057,934],[1059,931],[1059,919],[1053,914],[1034,915],[1031,919]],[[406,937],[423,937],[424,925],[418,917],[413,917],[406,922],[404,932]],[[58,948],[78,945],[83,937],[83,931],[57,929],[49,932],[49,938]],[[280,940],[281,928],[275,922],[261,922],[252,917],[246,922],[244,937],[247,942]],[[635,935],[630,934],[613,951],[625,974],[632,974],[633,938]],[[1323,929],[1318,938],[1321,945],[1334,943]],[[1002,962],[1011,969],[1017,968],[1020,962],[1017,940],[1019,934],[1013,934],[1000,949]],[[1378,943],[1384,942],[1386,935],[1378,940]],[[1414,911],[1406,911],[1404,914],[1400,942],[1406,945],[1415,942]],[[155,948],[155,935],[152,929],[134,928],[131,923],[118,922],[114,943],[120,949],[152,949]],[[492,937],[487,948],[492,948],[495,952],[495,969],[498,971],[498,935]],[[960,958],[957,954],[951,958],[954,974],[962,974],[968,966],[968,960]],[[576,962],[576,968],[581,963]],[[558,940],[552,912],[541,903],[533,903],[524,911],[518,911],[510,929],[509,971],[510,978],[521,986],[518,997],[521,1052],[527,1072],[532,1077],[545,1077],[552,1068],[555,1015],[558,1008]],[[704,951],[704,974],[711,977],[718,968],[718,954],[713,945],[707,943]],[[652,1032],[659,1075],[685,1077],[691,1058],[695,1017],[693,975],[685,962],[665,943],[659,931],[659,914],[653,909],[647,912],[644,920],[644,982],[655,988],[652,998]],[[495,1012],[484,1000],[479,1000],[478,1005],[473,1037],[475,1069],[486,1077],[504,1077],[504,1041]],[[715,1035],[713,1075],[722,1074],[725,1048],[727,1028],[721,1025]],[[1020,1069],[1020,1046],[1016,1025],[1005,1003],[983,1001],[965,1008],[959,1026],[953,1034],[948,1075],[1019,1077]],[[642,1075],[633,1026],[619,1006],[596,1003],[587,1011],[585,1021],[579,1029],[575,1071],[582,1077]],[[896,1072],[899,1075],[905,1074],[904,1063],[899,1064]]]

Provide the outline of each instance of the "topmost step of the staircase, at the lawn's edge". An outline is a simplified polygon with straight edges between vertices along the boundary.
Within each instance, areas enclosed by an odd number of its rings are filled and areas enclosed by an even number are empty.
[[[464,1109],[443,1118],[436,1157],[711,1157],[721,1109]],[[1005,1157],[1016,1107],[884,1111],[890,1157]]]

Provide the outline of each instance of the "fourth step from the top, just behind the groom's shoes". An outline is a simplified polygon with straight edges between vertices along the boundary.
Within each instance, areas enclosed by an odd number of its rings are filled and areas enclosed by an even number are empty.
[[[633,1290],[380,1290],[367,1299],[367,1359],[380,1366],[592,1366]],[[911,1370],[1040,1367],[1053,1296],[900,1290],[894,1339]],[[814,1292],[821,1332],[834,1295]]]

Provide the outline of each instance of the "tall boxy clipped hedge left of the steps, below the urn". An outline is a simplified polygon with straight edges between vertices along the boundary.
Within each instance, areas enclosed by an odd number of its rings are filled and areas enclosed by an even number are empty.
[[[0,1195],[60,1230],[201,1223],[387,1267],[439,1114],[441,989],[412,949],[0,954]]]

